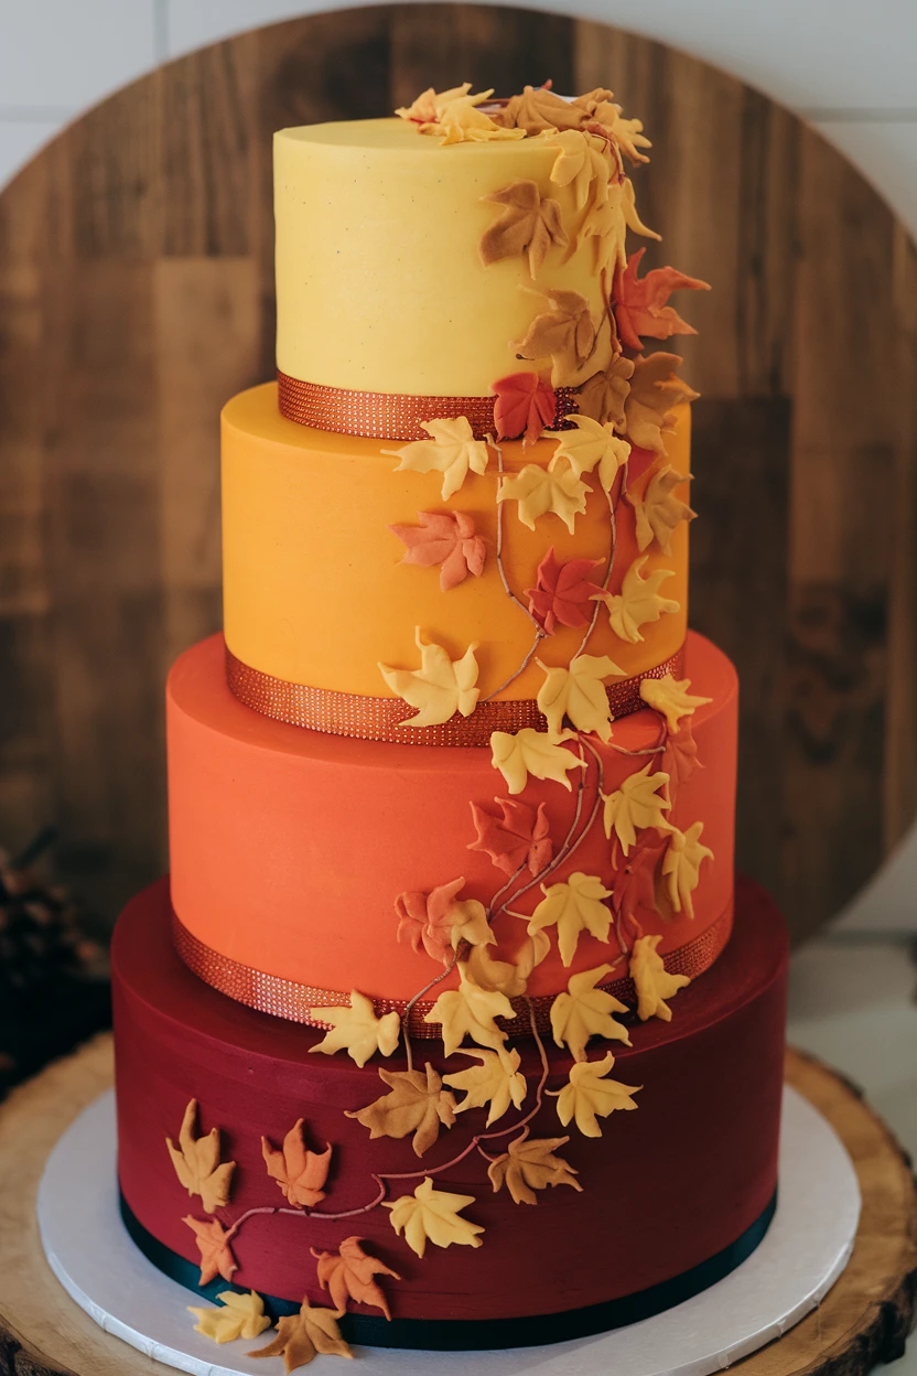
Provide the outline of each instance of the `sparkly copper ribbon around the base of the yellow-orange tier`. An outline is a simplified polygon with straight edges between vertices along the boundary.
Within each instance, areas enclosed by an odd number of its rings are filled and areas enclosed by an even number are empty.
[[[681,678],[685,649],[678,649],[661,665],[654,665],[632,678],[608,684],[612,717],[628,717],[645,706],[641,684],[645,678]],[[225,677],[230,691],[246,707],[263,717],[285,721],[307,731],[357,740],[385,740],[399,746],[489,746],[494,731],[514,735],[524,727],[546,731],[547,722],[533,698],[505,698],[478,702],[470,717],[455,716],[439,727],[410,727],[414,716],[401,698],[370,698],[363,694],[309,688],[307,684],[275,678],[242,663],[227,645]]]

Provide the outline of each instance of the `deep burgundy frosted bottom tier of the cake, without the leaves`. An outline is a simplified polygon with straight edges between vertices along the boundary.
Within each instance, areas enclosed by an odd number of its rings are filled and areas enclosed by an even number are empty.
[[[342,1054],[308,1055],[320,1033],[252,1011],[198,981],[172,949],[169,919],[162,881],[129,904],[113,945],[121,1187],[166,1247],[198,1260],[181,1218],[205,1215],[165,1148],[191,1098],[199,1101],[201,1131],[219,1127],[223,1159],[238,1163],[231,1201],[219,1214],[227,1226],[247,1208],[285,1204],[265,1174],[260,1137],[276,1146],[300,1117],[312,1149],[334,1148],[324,1211],[368,1203],[373,1171],[434,1167],[484,1130],[483,1110],[459,1115],[422,1161],[410,1139],[370,1141],[344,1110],[378,1098],[378,1065],[403,1069],[400,1050],[363,1069]],[[540,1192],[536,1207],[513,1204],[506,1190],[491,1192],[485,1163],[472,1153],[441,1186],[474,1196],[463,1212],[485,1229],[480,1248],[428,1245],[421,1260],[382,1208],[334,1223],[274,1215],[249,1221],[234,1240],[234,1280],[327,1303],[309,1248],[334,1251],[359,1234],[403,1277],[384,1282],[395,1317],[506,1318],[602,1303],[697,1266],[749,1227],[775,1187],[785,984],[780,914],[760,889],[740,881],[733,938],[712,970],[676,995],[674,1021],[637,1024],[632,1049],[615,1044],[613,1077],[643,1086],[638,1109],[604,1119],[601,1139],[571,1126],[561,1150],[583,1193],[560,1186]],[[593,1047],[591,1055],[604,1054],[602,1043]],[[536,1079],[533,1044],[520,1050]],[[560,1088],[569,1057],[553,1047],[549,1057],[549,1088]],[[456,1055],[448,1069],[470,1064]],[[516,1117],[510,1110],[495,1128]],[[566,1135],[555,1099],[544,1099],[532,1135]],[[389,1197],[415,1183],[395,1182]]]

